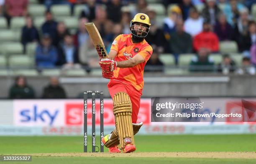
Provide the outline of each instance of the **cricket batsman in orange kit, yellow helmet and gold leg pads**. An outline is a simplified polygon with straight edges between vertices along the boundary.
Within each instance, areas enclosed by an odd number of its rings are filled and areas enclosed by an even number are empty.
[[[102,77],[110,79],[108,89],[114,106],[115,129],[102,139],[110,153],[120,153],[120,149],[123,153],[136,150],[133,136],[143,124],[137,124],[144,86],[143,72],[153,52],[144,39],[150,25],[148,15],[136,14],[130,23],[131,34],[118,35],[112,43],[108,59],[99,62]]]

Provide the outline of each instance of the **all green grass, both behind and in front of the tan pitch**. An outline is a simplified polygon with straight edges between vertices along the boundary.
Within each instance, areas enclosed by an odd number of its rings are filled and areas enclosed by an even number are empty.
[[[91,138],[91,137],[89,137]],[[89,139],[88,138],[88,139]],[[0,137],[0,154],[34,154],[32,163],[99,163],[108,164],[125,162],[153,164],[255,164],[256,163],[256,134],[233,135],[164,135],[164,136],[135,136],[136,152],[255,152],[252,159],[219,159],[203,158],[200,155],[195,158],[173,157],[52,157],[51,155],[40,157],[34,153],[81,153],[83,151],[83,137]],[[97,138],[99,141],[99,137]],[[91,150],[91,141],[88,140],[88,152]],[[97,149],[96,149],[97,150]],[[105,152],[108,152],[105,149]],[[58,156],[58,155],[56,155]],[[64,155],[65,156],[65,155]],[[8,162],[9,164],[11,162]],[[23,162],[19,162],[23,163]]]

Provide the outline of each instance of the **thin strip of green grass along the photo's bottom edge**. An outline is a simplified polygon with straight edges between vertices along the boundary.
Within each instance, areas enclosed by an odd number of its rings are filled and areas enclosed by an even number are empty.
[[[123,158],[123,157],[35,157],[36,164],[255,164],[253,159],[207,159],[207,158]],[[16,162],[17,163],[17,162]],[[9,162],[8,162],[9,164]],[[30,164],[18,162],[18,164]]]

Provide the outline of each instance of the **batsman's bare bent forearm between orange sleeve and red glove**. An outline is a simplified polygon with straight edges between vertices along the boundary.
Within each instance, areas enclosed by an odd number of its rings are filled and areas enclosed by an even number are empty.
[[[117,67],[120,67],[120,68],[134,67],[142,62],[145,62],[145,59],[141,55],[135,55],[130,60],[117,62]]]

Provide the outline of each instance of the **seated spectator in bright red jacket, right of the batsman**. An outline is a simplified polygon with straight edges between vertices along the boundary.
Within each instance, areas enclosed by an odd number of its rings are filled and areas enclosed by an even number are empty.
[[[208,48],[210,52],[219,51],[219,40],[215,33],[211,32],[212,25],[208,22],[204,22],[203,31],[197,34],[194,38],[193,45],[196,51],[200,48]]]

